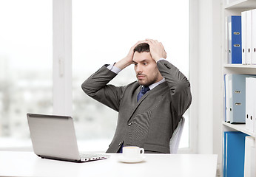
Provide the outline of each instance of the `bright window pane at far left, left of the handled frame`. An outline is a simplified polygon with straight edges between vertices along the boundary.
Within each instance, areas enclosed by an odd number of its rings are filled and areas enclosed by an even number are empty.
[[[27,145],[28,112],[52,114],[52,1],[0,1],[1,145]]]

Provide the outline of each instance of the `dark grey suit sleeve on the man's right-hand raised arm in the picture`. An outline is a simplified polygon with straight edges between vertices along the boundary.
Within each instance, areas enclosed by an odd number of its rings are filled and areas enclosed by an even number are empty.
[[[169,86],[172,108],[178,116],[184,114],[192,101],[189,80],[167,60],[159,60],[158,70]]]

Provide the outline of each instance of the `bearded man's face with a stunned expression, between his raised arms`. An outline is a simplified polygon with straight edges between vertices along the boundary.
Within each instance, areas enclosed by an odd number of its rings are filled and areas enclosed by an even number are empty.
[[[135,52],[132,61],[140,85],[149,86],[163,79],[150,52]]]

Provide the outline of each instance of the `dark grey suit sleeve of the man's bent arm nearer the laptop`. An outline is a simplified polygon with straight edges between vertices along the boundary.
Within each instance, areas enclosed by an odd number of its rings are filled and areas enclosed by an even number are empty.
[[[118,111],[124,87],[107,84],[116,75],[115,72],[107,69],[107,66],[102,66],[82,83],[81,88],[88,96]]]

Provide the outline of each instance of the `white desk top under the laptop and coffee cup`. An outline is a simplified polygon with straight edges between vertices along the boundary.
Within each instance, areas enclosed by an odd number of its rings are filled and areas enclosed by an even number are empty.
[[[145,161],[137,164],[118,162],[118,156],[73,163],[41,159],[33,152],[0,151],[0,176],[216,176],[217,155],[145,154]]]

